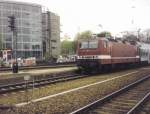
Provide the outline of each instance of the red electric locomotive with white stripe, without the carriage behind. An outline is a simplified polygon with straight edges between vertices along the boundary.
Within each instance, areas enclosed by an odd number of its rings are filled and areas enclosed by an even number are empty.
[[[104,37],[78,41],[77,65],[88,70],[99,70],[139,63],[139,49],[129,42]]]

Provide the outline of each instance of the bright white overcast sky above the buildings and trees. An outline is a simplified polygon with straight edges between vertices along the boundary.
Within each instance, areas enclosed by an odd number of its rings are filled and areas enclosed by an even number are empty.
[[[150,0],[14,0],[38,3],[60,16],[61,35],[150,28]]]

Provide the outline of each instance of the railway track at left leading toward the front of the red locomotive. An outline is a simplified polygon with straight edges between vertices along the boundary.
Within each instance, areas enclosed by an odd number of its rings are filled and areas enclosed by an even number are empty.
[[[64,76],[57,76],[57,77],[51,77],[47,79],[40,79],[40,80],[32,80],[28,82],[21,82],[21,83],[15,83],[15,84],[7,84],[0,86],[0,94],[6,94],[14,91],[19,90],[25,90],[25,89],[32,89],[33,87],[41,87],[48,84],[63,82],[63,81],[69,81],[74,80],[78,78],[83,78],[88,75],[81,75],[81,74],[67,74]]]

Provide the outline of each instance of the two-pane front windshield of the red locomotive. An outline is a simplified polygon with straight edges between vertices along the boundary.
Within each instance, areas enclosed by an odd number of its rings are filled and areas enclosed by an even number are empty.
[[[80,49],[95,49],[98,48],[98,41],[83,41],[80,43]]]

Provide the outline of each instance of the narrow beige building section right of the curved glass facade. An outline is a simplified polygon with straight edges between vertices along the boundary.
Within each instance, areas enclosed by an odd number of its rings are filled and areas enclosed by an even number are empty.
[[[55,59],[60,55],[60,17],[46,11],[42,13],[43,55]]]

